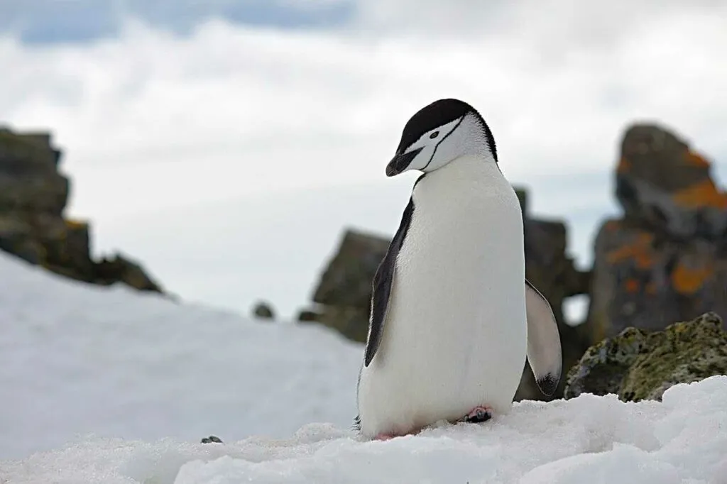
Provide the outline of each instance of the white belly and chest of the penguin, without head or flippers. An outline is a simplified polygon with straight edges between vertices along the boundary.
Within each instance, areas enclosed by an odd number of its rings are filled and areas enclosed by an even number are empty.
[[[517,197],[499,173],[494,186],[435,175],[414,191],[382,342],[361,370],[358,409],[369,437],[459,420],[477,406],[506,412],[523,372]]]

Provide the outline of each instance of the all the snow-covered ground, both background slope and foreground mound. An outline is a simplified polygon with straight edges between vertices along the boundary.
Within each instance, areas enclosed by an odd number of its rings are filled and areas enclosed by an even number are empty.
[[[323,328],[0,274],[3,484],[727,483],[727,376],[367,442],[362,348]]]

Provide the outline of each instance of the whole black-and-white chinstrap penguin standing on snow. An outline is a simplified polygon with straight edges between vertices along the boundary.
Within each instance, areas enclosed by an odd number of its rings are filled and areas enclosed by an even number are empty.
[[[354,419],[369,439],[507,413],[526,359],[545,395],[561,379],[555,316],[525,278],[520,203],[481,114],[452,98],[417,111],[385,174],[412,170],[372,283]]]

